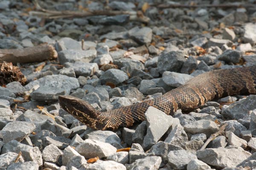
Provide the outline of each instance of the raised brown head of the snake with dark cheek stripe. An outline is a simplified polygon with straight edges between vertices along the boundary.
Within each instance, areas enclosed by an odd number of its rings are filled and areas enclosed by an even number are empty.
[[[74,96],[58,96],[58,102],[62,109],[76,117],[80,122],[93,127],[97,122],[99,111],[89,103]]]

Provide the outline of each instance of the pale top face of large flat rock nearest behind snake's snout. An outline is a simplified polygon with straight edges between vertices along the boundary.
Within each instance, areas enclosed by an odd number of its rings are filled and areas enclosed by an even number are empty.
[[[51,75],[42,77],[25,85],[25,88],[26,90],[30,90],[35,85],[45,86],[49,88],[61,88],[64,89],[67,94],[70,93],[70,90],[79,88],[79,82],[76,78],[67,77],[64,75]]]

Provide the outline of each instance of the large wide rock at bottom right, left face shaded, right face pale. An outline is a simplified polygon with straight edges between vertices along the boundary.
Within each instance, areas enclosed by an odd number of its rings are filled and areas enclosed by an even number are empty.
[[[242,149],[219,147],[198,150],[196,156],[204,163],[222,169],[224,167],[236,167],[236,165],[247,159],[251,154]]]

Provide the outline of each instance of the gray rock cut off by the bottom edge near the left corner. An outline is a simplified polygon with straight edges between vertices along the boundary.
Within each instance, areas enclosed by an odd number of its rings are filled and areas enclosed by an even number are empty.
[[[6,170],[38,170],[38,168],[35,161],[26,161],[11,164]]]

